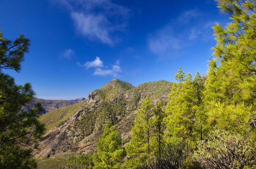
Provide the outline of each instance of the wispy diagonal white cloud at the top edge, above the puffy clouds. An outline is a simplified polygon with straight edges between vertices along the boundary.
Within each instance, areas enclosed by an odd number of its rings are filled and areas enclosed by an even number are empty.
[[[129,8],[111,0],[54,0],[66,7],[77,33],[91,41],[114,45],[127,28]],[[117,35],[118,34],[118,35]]]

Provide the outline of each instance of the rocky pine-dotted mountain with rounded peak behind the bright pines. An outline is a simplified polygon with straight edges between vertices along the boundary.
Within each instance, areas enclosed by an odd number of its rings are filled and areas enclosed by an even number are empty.
[[[173,83],[164,80],[147,82],[134,87],[130,83],[113,79],[94,90],[80,103],[65,106],[43,114],[47,132],[39,141],[36,158],[68,158],[82,153],[94,154],[96,143],[110,121],[121,134],[123,145],[131,139],[136,113],[146,97],[156,105],[166,106]]]

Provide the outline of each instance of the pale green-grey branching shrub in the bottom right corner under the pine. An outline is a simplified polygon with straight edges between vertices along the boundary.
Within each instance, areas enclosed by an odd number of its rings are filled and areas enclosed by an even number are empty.
[[[235,132],[215,130],[208,141],[201,141],[194,159],[206,168],[254,168],[254,148],[248,136]]]

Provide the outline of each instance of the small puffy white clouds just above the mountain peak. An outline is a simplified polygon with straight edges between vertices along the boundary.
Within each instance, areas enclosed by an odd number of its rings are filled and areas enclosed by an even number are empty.
[[[77,62],[77,65],[82,66],[85,69],[94,68],[93,75],[113,75],[113,77],[118,77],[118,73],[122,72],[120,61],[116,61],[111,68],[108,68],[108,66],[103,65],[103,61],[101,61],[99,57],[96,57],[94,61],[87,61],[85,64],[80,64],[80,62]]]

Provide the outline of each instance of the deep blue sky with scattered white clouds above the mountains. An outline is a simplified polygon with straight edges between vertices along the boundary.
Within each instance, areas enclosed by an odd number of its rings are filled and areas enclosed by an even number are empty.
[[[31,40],[17,84],[36,97],[87,97],[113,78],[138,84],[207,72],[211,26],[225,26],[214,0],[8,0],[0,6],[3,37]]]

